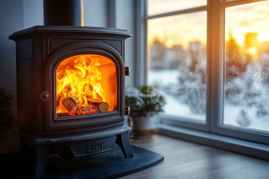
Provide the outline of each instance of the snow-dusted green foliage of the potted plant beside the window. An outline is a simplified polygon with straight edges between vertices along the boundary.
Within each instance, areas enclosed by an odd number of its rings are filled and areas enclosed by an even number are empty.
[[[155,115],[164,112],[165,99],[151,86],[126,87],[125,105],[130,107],[130,116]]]

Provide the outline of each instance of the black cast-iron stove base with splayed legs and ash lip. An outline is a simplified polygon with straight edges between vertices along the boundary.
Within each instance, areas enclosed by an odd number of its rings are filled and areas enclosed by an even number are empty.
[[[27,146],[34,151],[34,176],[44,175],[50,151],[57,152],[63,158],[90,156],[114,148],[118,144],[125,158],[133,157],[129,142],[130,127],[121,126],[111,130],[98,131],[90,134],[65,137],[33,138],[26,133],[20,133],[20,153],[23,155]]]

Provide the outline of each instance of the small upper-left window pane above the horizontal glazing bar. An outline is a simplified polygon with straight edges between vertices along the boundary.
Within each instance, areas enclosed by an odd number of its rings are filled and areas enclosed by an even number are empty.
[[[147,14],[148,16],[153,16],[204,5],[207,5],[207,0],[148,0]]]

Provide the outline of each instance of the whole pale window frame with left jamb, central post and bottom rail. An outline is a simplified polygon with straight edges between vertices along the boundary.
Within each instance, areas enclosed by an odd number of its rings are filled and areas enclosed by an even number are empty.
[[[147,71],[149,70],[149,63],[147,60],[147,20],[157,17],[165,17],[176,14],[199,12],[207,10],[207,114],[206,123],[184,118],[176,118],[168,115],[160,115],[158,117],[160,126],[164,128],[158,130],[165,134],[170,134],[175,137],[175,130],[179,134],[186,134],[193,136],[191,138],[201,137],[201,141],[204,141],[207,137],[215,138],[216,134],[220,134],[222,139],[224,136],[229,136],[222,141],[220,138],[219,142],[223,142],[223,146],[216,146],[225,148],[225,144],[229,143],[229,140],[237,140],[235,138],[253,141],[249,144],[249,148],[260,148],[261,153],[265,152],[269,158],[269,132],[256,129],[248,129],[243,127],[237,127],[232,125],[223,124],[223,107],[224,107],[224,17],[225,8],[235,5],[241,5],[245,3],[258,2],[263,0],[208,0],[206,6],[190,8],[185,10],[179,10],[175,12],[157,14],[153,16],[147,16],[147,2],[146,0],[135,1],[135,12],[136,12],[136,86],[147,84]],[[214,39],[212,38],[214,37]],[[216,59],[216,60],[215,60]],[[211,68],[214,67],[214,68]],[[169,128],[169,126],[171,128]],[[182,128],[184,127],[184,128]],[[170,129],[171,132],[167,132]],[[182,130],[181,130],[182,129]],[[189,132],[186,132],[186,130]],[[193,129],[193,130],[192,130]],[[181,131],[181,132],[179,132]],[[200,132],[199,132],[200,131]],[[206,133],[204,133],[206,132]],[[199,134],[198,134],[199,133]],[[187,134],[186,134],[187,135]],[[186,136],[185,135],[185,136]],[[184,135],[183,135],[184,136]],[[217,135],[218,136],[218,135]],[[209,137],[210,138],[210,137]],[[186,139],[186,138],[184,138]],[[195,140],[194,140],[195,141]],[[238,141],[237,141],[238,142]],[[242,141],[242,146],[247,146],[246,141]],[[262,144],[257,144],[262,143]],[[243,145],[244,143],[244,145]],[[238,142],[239,144],[239,142]],[[256,145],[254,145],[256,144]],[[207,144],[209,145],[209,144]],[[241,144],[240,144],[241,145]],[[212,144],[214,146],[214,144]],[[251,147],[252,146],[252,147]],[[238,147],[238,146],[237,146]],[[233,151],[236,151],[234,148]],[[253,150],[245,150],[245,154],[258,156],[254,154]],[[237,151],[238,152],[238,151]],[[241,152],[244,153],[244,152]],[[255,153],[257,153],[255,151]],[[259,155],[260,155],[259,154]],[[258,156],[261,157],[261,156]],[[264,158],[264,157],[261,157]]]

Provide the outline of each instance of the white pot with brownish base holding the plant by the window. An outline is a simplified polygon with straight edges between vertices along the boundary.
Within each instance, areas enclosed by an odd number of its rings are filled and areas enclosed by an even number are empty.
[[[133,117],[133,132],[139,135],[155,133],[155,116]]]

